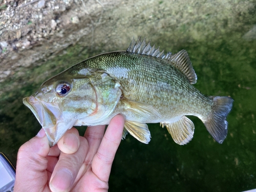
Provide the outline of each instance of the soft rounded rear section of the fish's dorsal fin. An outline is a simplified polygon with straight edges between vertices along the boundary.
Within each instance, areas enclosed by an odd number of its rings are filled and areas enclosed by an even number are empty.
[[[170,56],[168,60],[188,78],[191,84],[197,82],[197,75],[192,67],[188,54],[184,49]]]

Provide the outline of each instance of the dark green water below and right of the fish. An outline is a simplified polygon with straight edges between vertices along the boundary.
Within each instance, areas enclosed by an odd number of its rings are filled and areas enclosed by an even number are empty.
[[[231,96],[228,135],[215,142],[193,117],[195,134],[185,146],[175,144],[165,129],[151,125],[152,141],[122,142],[114,163],[114,191],[243,191],[256,188],[256,42],[233,36],[217,43],[190,44],[198,82],[207,95]],[[120,181],[121,180],[121,181]],[[119,181],[118,184],[116,181]],[[124,189],[124,190],[122,190]]]

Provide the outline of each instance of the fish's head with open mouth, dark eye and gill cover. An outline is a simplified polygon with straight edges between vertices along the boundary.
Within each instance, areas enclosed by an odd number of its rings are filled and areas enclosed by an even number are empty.
[[[44,128],[50,146],[74,125],[96,125],[108,119],[121,95],[120,84],[106,78],[108,74],[69,76],[52,77],[23,99]]]

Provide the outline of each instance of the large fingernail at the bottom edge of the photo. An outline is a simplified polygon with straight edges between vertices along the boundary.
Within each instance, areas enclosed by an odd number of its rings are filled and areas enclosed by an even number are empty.
[[[71,186],[71,182],[73,181],[73,175],[70,170],[63,168],[58,170],[58,172],[53,177],[50,182],[51,189],[54,191],[67,191]]]

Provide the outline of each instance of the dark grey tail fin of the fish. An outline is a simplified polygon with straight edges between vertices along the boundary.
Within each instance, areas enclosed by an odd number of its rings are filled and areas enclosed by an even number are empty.
[[[230,97],[210,96],[214,105],[212,112],[204,121],[207,131],[218,142],[222,143],[227,136],[226,117],[232,108],[233,99]]]

